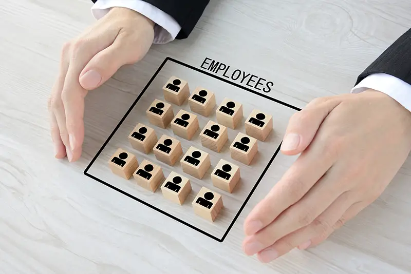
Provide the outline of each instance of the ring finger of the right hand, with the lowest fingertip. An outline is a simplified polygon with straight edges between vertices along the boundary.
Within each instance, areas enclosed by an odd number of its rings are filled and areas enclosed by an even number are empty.
[[[310,225],[287,234],[271,246],[260,251],[257,255],[258,259],[263,263],[268,263],[283,256],[298,245],[310,244],[310,239],[328,231],[352,204],[352,194],[350,192],[344,192]]]

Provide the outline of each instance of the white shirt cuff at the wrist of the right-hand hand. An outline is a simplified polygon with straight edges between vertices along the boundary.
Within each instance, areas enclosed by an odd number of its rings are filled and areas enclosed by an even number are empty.
[[[411,85],[401,79],[385,73],[371,74],[358,83],[351,93],[360,93],[369,88],[387,94],[411,111]]]

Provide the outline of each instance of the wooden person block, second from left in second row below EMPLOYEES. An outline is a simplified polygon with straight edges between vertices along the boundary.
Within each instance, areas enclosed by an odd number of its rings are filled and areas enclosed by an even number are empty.
[[[191,140],[199,128],[197,115],[181,109],[174,117],[171,128],[177,136]]]

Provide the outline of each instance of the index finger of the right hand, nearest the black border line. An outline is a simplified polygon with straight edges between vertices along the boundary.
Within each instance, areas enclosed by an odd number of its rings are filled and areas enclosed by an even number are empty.
[[[263,229],[284,210],[303,198],[335,163],[337,157],[338,149],[332,148],[323,140],[305,150],[246,218],[246,235],[250,236]]]

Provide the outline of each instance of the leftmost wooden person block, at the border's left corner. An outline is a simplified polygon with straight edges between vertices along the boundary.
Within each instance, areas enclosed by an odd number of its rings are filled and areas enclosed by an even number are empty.
[[[124,149],[117,149],[108,161],[111,172],[128,180],[138,168],[136,156]]]

